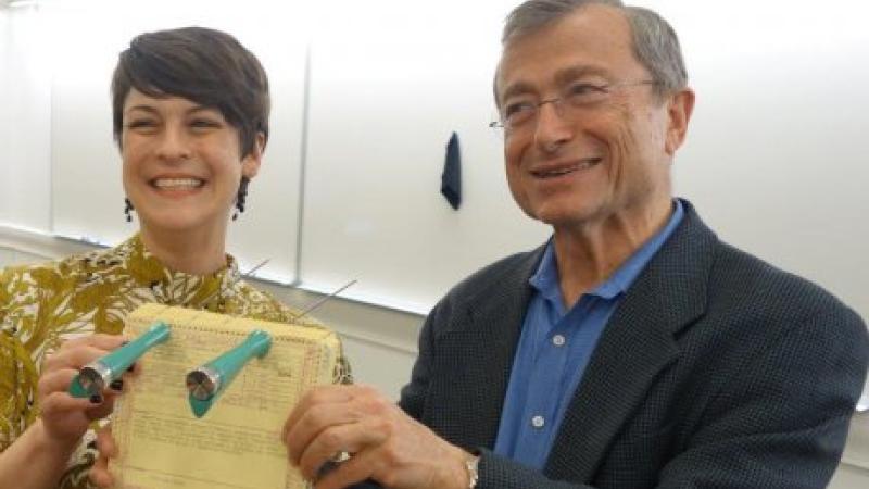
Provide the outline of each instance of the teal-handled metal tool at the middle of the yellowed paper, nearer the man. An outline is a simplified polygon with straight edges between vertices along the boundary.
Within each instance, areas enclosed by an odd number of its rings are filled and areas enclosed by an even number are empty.
[[[186,383],[193,414],[197,417],[204,416],[244,364],[254,356],[262,359],[270,347],[272,336],[262,329],[254,329],[238,347],[190,371]]]

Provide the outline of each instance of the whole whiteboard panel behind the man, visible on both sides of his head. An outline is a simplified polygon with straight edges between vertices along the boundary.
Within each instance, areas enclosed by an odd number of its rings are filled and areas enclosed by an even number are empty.
[[[301,278],[427,311],[475,269],[541,243],[505,184],[492,76],[512,2],[347,5],[312,48]],[[848,8],[641,1],[676,27],[697,105],[677,195],[720,237],[869,317],[869,30]],[[858,61],[859,60],[859,61]],[[462,139],[465,200],[439,195]]]

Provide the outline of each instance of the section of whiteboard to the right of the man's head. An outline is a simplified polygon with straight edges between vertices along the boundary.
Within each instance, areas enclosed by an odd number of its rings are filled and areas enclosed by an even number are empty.
[[[697,92],[677,193],[869,318],[869,5],[643,3],[680,34]]]

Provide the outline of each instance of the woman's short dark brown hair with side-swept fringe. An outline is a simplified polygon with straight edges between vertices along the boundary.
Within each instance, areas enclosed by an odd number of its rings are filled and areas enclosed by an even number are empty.
[[[268,139],[268,78],[256,57],[235,37],[204,27],[135,37],[112,77],[115,141],[121,145],[124,101],[131,88],[149,97],[181,97],[221,111],[239,131],[241,156],[256,134]]]

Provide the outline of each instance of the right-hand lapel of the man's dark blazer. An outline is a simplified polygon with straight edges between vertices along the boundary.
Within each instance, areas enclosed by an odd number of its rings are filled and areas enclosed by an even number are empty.
[[[673,334],[706,308],[715,235],[685,201],[679,228],[606,326],[546,462],[556,479],[590,480],[658,372],[679,355]]]

